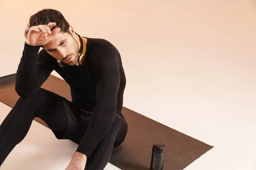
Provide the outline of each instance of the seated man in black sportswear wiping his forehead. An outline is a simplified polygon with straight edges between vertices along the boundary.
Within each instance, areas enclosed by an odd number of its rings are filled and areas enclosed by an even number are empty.
[[[79,144],[66,170],[103,170],[128,129],[118,50],[81,37],[54,9],[32,15],[25,37],[15,84],[20,98],[0,125],[0,165],[39,117],[57,139]],[[53,70],[70,85],[72,101],[41,88]]]

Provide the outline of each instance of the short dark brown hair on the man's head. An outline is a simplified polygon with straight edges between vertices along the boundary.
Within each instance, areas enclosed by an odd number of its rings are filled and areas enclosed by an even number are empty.
[[[68,33],[72,35],[71,32],[69,31],[70,24],[61,14],[61,12],[55,9],[43,9],[30,17],[29,23],[24,33],[25,37],[27,38],[30,27],[38,26],[38,25],[47,25],[50,22],[56,23],[56,25],[51,28],[51,31],[59,27],[61,28],[61,31],[60,31],[61,33]]]

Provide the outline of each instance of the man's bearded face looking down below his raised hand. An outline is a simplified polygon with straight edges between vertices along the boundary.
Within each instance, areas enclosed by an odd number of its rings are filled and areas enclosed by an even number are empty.
[[[58,33],[44,45],[44,49],[55,59],[67,65],[78,62],[79,45],[77,40],[68,33]]]

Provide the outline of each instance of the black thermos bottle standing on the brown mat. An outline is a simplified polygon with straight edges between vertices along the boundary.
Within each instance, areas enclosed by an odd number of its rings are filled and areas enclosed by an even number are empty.
[[[154,143],[152,148],[150,170],[163,170],[165,145]]]

